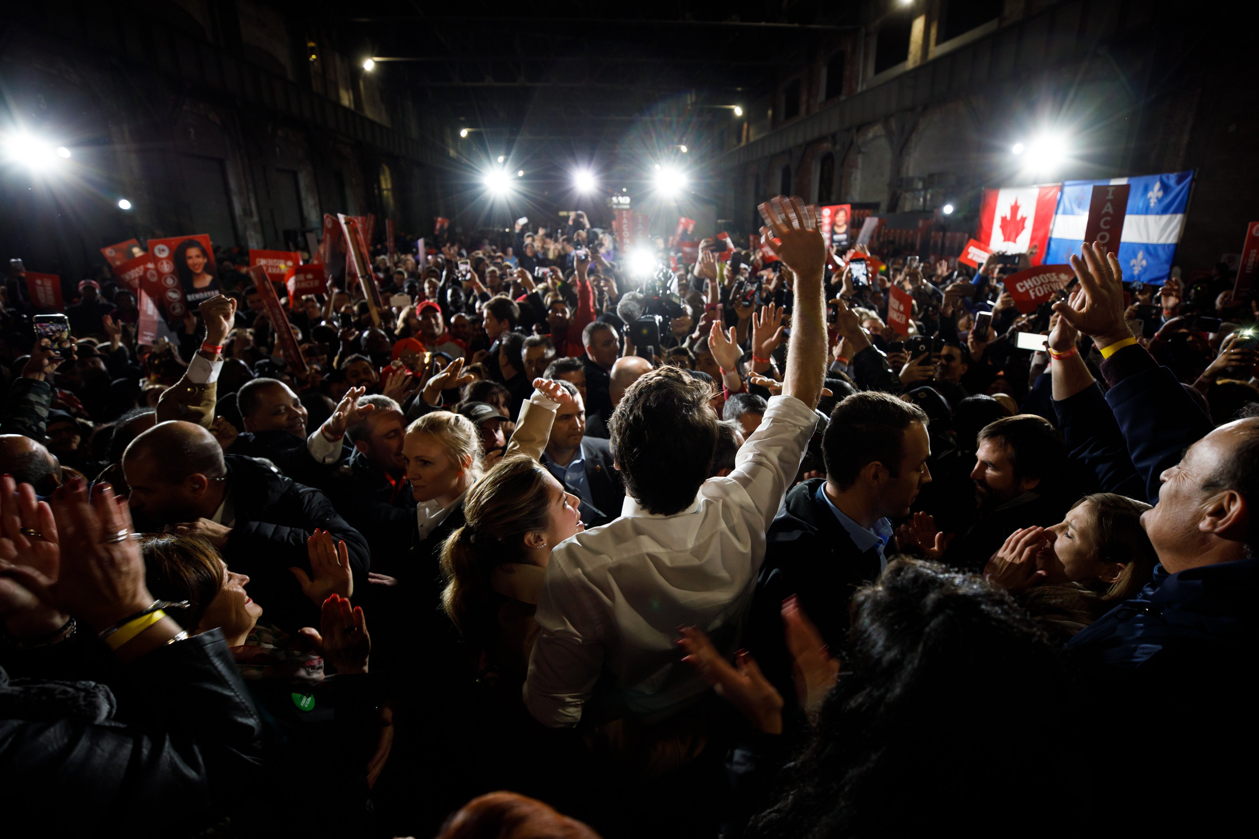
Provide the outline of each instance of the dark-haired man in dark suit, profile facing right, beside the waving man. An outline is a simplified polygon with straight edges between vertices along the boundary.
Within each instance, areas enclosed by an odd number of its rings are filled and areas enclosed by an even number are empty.
[[[831,413],[822,438],[826,478],[787,493],[769,527],[744,644],[765,678],[797,707],[782,604],[794,595],[831,649],[849,629],[849,600],[879,576],[894,548],[889,518],[909,514],[930,482],[927,414],[890,394],[862,391]]]

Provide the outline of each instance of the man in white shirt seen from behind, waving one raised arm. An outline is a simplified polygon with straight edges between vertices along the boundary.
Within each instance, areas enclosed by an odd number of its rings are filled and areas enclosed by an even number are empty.
[[[697,626],[726,654],[739,642],[765,531],[817,424],[827,361],[816,209],[782,196],[759,209],[763,240],[796,275],[782,396],[735,469],[706,479],[719,418],[704,386],[661,367],[626,391],[609,421],[621,517],[556,546],[538,600],[524,699],[544,725],[575,726],[601,677],[599,703],[613,714],[667,718],[708,691],[681,660],[677,628]]]

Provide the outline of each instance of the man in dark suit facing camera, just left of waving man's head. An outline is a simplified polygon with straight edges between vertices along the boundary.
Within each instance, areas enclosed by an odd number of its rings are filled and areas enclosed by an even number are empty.
[[[621,514],[624,486],[608,442],[585,436],[585,404],[577,386],[568,381],[559,384],[573,395],[573,404],[556,410],[541,463],[570,493],[594,508],[598,516],[585,525],[598,527]]]

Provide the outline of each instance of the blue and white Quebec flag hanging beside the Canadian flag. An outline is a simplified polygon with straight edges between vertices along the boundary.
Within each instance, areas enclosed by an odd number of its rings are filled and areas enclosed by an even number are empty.
[[[1089,200],[1099,184],[1128,184],[1128,214],[1119,236],[1119,267],[1126,282],[1160,284],[1171,274],[1176,244],[1185,229],[1194,170],[1170,175],[1064,181],[1045,249],[1046,265],[1066,264],[1080,253],[1089,220]]]

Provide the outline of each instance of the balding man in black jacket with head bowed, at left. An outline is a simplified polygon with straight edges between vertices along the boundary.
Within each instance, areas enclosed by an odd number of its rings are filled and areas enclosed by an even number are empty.
[[[319,608],[290,569],[310,576],[306,540],[316,528],[344,540],[356,591],[366,591],[369,552],[363,536],[319,489],[295,483],[263,463],[227,455],[193,423],[159,423],[136,436],[122,470],[137,530],[200,536],[228,567],[251,579],[249,596],[285,631],[317,625]]]

